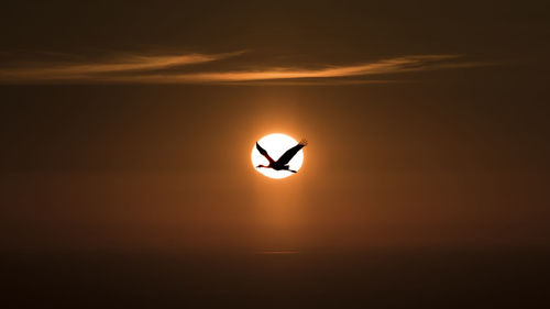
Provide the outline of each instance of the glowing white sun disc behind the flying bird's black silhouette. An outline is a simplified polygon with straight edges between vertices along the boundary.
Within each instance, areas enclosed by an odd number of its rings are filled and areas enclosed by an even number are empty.
[[[296,146],[298,142],[294,140],[293,137],[282,134],[282,133],[273,133],[270,135],[265,135],[264,137],[260,139],[257,143],[270,154],[270,156],[274,159],[277,161],[286,151],[289,148]],[[252,146],[252,165],[254,168],[262,173],[264,176],[267,176],[270,178],[274,179],[282,179],[286,178],[294,173],[288,172],[288,170],[275,170],[273,168],[256,168],[258,165],[268,165],[270,162],[265,156],[263,156],[256,148],[256,144]],[[300,150],[292,159],[288,162],[288,166],[293,170],[298,170],[301,167],[301,164],[304,163],[304,151]]]

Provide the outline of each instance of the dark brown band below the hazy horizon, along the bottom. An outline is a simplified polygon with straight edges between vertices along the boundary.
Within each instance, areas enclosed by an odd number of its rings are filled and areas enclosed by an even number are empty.
[[[2,308],[550,308],[550,251],[3,254]]]

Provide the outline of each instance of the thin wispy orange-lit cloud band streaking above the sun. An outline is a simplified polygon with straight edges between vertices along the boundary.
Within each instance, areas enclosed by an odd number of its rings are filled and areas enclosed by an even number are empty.
[[[315,69],[263,67],[186,71],[191,64],[223,60],[243,54],[187,54],[177,56],[131,56],[119,62],[56,64],[50,66],[0,68],[3,82],[124,82],[124,84],[238,84],[238,85],[319,85],[391,82],[394,80],[349,80],[350,77],[392,75],[408,71],[464,68],[485,65],[465,62],[459,55],[415,55],[350,65],[321,65]],[[223,67],[231,67],[224,65]],[[176,69],[168,69],[176,68]],[[179,69],[178,69],[179,68]]]

